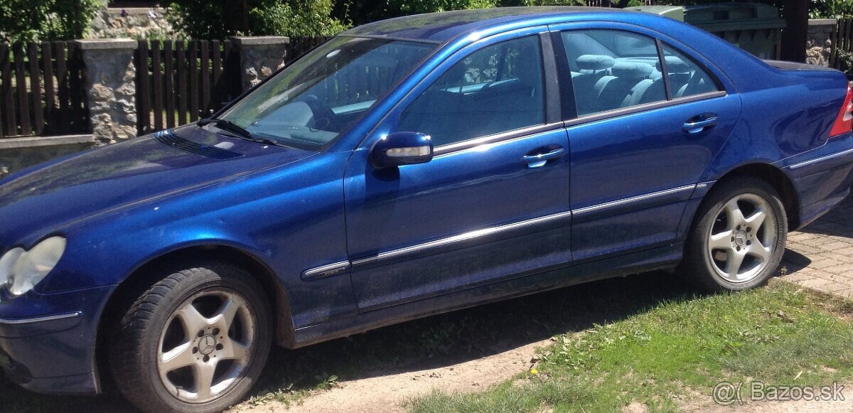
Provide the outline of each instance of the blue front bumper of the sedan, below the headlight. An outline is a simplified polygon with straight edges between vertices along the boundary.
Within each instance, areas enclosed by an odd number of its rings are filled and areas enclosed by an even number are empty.
[[[0,368],[9,380],[39,393],[98,393],[97,319],[111,291],[107,287],[3,297]],[[20,317],[25,310],[44,313]]]

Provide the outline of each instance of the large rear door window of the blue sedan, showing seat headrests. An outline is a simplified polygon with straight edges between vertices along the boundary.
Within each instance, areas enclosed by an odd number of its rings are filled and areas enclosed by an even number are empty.
[[[617,30],[561,35],[578,116],[666,100],[653,38]]]

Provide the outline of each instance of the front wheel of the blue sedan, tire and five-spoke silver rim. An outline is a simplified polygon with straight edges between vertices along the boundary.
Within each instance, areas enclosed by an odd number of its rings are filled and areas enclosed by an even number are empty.
[[[183,316],[190,312],[188,305],[202,316],[193,318],[194,322],[206,320],[207,311],[215,309],[209,319],[228,327],[224,332],[206,327],[200,329],[203,335],[189,334],[190,325],[213,324],[184,321],[190,319]],[[229,308],[236,309],[235,315],[230,316],[233,321],[228,321],[229,311],[223,310]],[[177,271],[148,288],[121,318],[111,337],[107,350],[115,385],[136,407],[148,412],[222,411],[246,396],[264,368],[272,342],[270,304],[263,288],[245,270],[204,265]],[[171,348],[172,342],[183,343],[175,347],[186,350],[179,352],[182,360],[195,361],[161,375],[161,369],[171,367],[161,367],[159,361],[165,358],[164,348]],[[238,352],[241,358],[235,356]],[[195,386],[195,402],[181,392],[186,393],[193,388],[190,384],[203,381],[199,373],[202,370],[211,375],[212,384],[223,375],[227,380],[220,383],[225,385],[215,394],[212,385],[206,390]],[[166,379],[161,378],[163,375]],[[212,399],[201,398],[203,393]]]

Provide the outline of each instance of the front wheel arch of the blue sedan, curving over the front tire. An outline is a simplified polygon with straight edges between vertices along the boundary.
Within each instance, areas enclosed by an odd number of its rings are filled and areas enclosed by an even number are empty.
[[[291,317],[287,292],[281,282],[278,281],[275,271],[271,270],[264,261],[241,248],[223,244],[211,243],[181,247],[162,253],[136,267],[136,270],[133,270],[119,283],[119,286],[107,300],[107,304],[104,305],[101,317],[98,320],[94,349],[96,375],[100,381],[99,388],[103,387],[104,379],[109,375],[106,368],[107,352],[102,351],[109,340],[108,332],[114,331],[113,326],[119,323],[120,317],[129,309],[133,300],[136,300],[147,288],[159,281],[164,274],[211,260],[239,266],[252,274],[264,288],[270,305],[273,307],[273,329],[275,329],[273,337],[276,344],[293,347],[293,317]]]

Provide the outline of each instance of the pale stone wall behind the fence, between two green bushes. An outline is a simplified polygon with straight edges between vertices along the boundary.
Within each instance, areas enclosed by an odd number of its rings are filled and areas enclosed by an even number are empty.
[[[172,33],[163,8],[105,8],[92,19],[86,38],[171,37]]]

